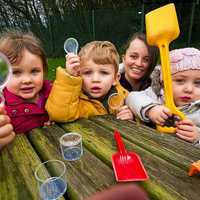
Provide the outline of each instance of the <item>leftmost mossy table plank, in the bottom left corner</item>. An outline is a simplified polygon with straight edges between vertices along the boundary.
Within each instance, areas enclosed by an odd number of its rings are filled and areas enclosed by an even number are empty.
[[[40,159],[25,135],[18,135],[14,142],[0,152],[0,199],[39,199],[34,177]]]

